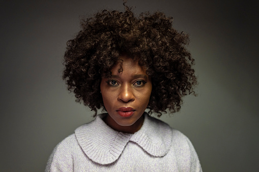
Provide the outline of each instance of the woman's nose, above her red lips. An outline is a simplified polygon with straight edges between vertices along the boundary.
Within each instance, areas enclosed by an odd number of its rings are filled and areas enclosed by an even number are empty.
[[[122,102],[130,102],[135,100],[135,96],[133,93],[133,88],[130,85],[122,85],[120,88],[120,93],[118,96],[118,100]]]

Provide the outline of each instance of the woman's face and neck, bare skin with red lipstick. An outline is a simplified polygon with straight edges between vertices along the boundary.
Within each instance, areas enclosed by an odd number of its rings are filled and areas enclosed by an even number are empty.
[[[128,133],[140,129],[152,91],[151,78],[146,69],[127,55],[121,56],[122,72],[118,72],[120,63],[111,70],[111,78],[102,78],[101,93],[108,116],[104,121],[111,128]]]

